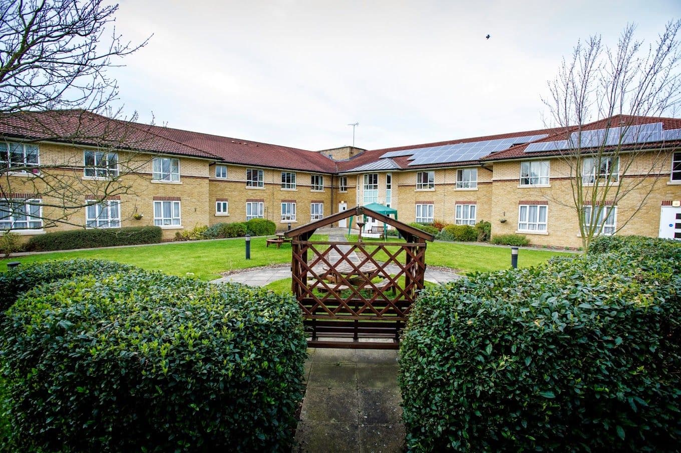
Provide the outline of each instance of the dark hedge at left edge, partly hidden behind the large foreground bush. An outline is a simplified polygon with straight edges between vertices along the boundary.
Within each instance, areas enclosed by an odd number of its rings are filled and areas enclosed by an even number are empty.
[[[136,270],[135,266],[106,260],[54,260],[22,264],[0,273],[0,312],[4,312],[23,292],[33,287],[80,275],[104,276],[116,272]]]

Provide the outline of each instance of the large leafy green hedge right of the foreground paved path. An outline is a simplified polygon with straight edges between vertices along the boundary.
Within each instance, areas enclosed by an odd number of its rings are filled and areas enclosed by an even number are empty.
[[[681,243],[595,249],[421,293],[400,350],[413,451],[678,451]]]

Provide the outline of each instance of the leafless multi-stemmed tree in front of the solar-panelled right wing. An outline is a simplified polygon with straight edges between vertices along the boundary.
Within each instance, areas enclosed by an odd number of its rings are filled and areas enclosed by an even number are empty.
[[[672,116],[680,105],[680,28],[681,20],[668,22],[647,46],[635,39],[634,25],[614,48],[590,37],[548,83],[547,125],[565,129],[567,143],[558,153],[572,189],[567,200],[548,198],[573,210],[584,249],[594,236],[621,230],[645,206],[676,149],[641,117]]]

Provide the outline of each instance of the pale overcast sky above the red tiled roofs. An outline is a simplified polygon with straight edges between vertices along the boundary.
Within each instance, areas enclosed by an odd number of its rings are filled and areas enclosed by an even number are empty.
[[[312,150],[358,121],[377,149],[539,129],[577,40],[636,22],[652,42],[681,1],[121,0],[117,17],[153,33],[111,72],[140,121]]]

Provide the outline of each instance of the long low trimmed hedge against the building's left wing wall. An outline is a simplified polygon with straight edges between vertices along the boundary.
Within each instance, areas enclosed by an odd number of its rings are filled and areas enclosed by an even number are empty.
[[[161,227],[157,226],[90,228],[32,236],[26,248],[28,251],[51,251],[160,242]]]

